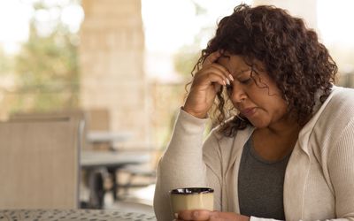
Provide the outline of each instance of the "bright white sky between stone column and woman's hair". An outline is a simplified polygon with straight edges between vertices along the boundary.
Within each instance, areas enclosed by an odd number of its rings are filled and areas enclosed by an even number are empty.
[[[142,0],[142,19],[145,27],[147,50],[177,50],[194,41],[201,27],[215,26],[216,22],[231,14],[236,4],[249,1],[194,0],[207,10],[207,16],[196,17],[191,0]],[[207,40],[210,36],[206,36]],[[206,43],[206,42],[205,42]]]

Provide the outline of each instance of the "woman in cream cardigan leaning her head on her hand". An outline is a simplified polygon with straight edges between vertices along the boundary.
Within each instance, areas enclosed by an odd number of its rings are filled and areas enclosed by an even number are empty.
[[[158,164],[158,220],[173,219],[177,187],[212,187],[215,209],[178,220],[353,220],[354,90],[336,72],[284,10],[242,4],[221,19]],[[203,143],[213,103],[219,126]]]

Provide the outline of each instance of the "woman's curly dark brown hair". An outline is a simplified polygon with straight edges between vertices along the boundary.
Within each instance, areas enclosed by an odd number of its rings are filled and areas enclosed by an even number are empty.
[[[321,91],[321,103],[326,100],[338,69],[315,31],[305,27],[303,19],[270,5],[240,4],[230,16],[221,19],[192,75],[217,50],[242,56],[250,66],[255,59],[261,61],[289,103],[288,111],[295,114],[300,125],[312,116],[316,92]],[[232,112],[235,108],[223,90],[217,94],[214,115],[220,124],[219,132],[231,137],[250,122]]]

